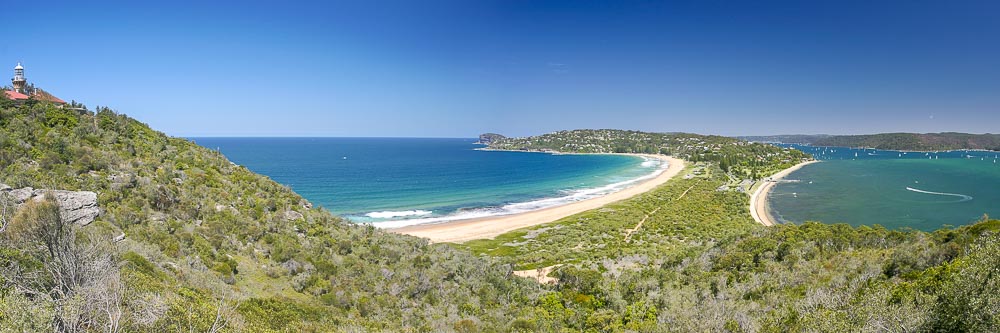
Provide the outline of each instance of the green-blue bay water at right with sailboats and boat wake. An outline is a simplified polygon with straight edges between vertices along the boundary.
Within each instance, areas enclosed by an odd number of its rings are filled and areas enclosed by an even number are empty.
[[[793,182],[771,191],[768,201],[779,220],[930,231],[969,224],[983,214],[1000,216],[995,152],[797,148],[822,162],[793,172],[785,178]]]

